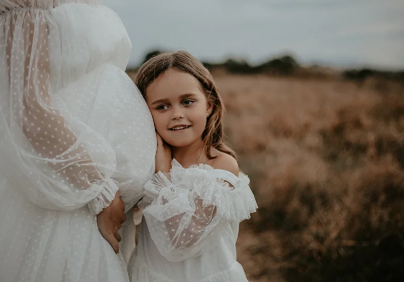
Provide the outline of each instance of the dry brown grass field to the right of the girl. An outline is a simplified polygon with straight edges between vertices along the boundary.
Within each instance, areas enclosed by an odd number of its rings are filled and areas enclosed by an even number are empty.
[[[250,282],[404,280],[404,85],[214,77],[259,204],[237,242]]]

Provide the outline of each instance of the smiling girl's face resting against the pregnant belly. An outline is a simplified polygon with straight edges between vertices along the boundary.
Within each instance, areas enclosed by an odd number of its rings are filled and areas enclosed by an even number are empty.
[[[146,97],[156,130],[167,144],[184,147],[202,140],[212,107],[196,78],[169,69],[149,85]]]

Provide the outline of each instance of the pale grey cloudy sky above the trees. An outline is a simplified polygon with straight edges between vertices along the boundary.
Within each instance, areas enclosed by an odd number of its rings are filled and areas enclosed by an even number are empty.
[[[259,63],[404,69],[403,0],[104,0],[132,40],[130,65],[152,49]]]

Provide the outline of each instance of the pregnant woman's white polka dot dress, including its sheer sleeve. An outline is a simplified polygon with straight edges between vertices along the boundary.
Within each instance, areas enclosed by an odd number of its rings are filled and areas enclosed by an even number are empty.
[[[0,0],[0,276],[127,282],[95,215],[154,172],[122,22],[96,0]]]

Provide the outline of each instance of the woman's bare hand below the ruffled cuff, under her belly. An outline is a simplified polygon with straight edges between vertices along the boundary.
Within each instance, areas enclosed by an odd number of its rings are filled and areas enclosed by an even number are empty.
[[[115,253],[119,252],[119,242],[121,242],[121,236],[118,230],[125,220],[125,204],[119,197],[118,191],[111,204],[97,215],[99,232],[111,244]]]

